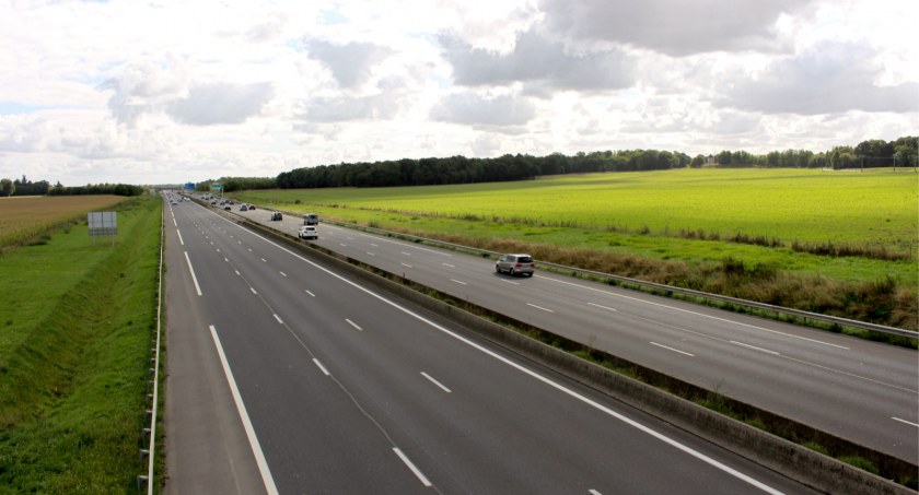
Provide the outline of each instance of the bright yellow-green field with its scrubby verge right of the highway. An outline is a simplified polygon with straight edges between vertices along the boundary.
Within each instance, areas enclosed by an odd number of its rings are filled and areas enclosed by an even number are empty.
[[[235,196],[915,330],[918,191],[914,173],[679,169]]]

